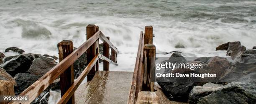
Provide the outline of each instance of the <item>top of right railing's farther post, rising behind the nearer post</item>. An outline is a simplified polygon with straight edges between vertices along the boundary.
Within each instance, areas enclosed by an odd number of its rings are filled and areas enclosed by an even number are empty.
[[[153,44],[153,27],[145,26],[144,45]]]

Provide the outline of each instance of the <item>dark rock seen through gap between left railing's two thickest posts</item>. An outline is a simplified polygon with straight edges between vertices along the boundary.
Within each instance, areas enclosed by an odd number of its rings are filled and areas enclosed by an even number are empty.
[[[77,48],[74,47],[74,50]],[[75,62],[74,62],[74,79],[77,79],[79,75],[84,71],[84,68],[87,66],[87,53],[84,52]]]

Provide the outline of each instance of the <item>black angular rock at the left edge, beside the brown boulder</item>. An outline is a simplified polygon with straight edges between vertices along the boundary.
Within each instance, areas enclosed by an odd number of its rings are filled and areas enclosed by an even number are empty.
[[[29,57],[26,57],[22,54],[11,59],[8,62],[5,62],[1,65],[1,68],[5,69],[13,77],[18,73],[25,73],[32,64],[32,60]]]

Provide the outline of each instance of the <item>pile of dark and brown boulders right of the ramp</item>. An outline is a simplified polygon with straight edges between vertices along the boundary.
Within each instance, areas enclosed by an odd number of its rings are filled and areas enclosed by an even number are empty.
[[[201,70],[165,69],[165,73],[215,72],[217,78],[191,79],[159,77],[156,79],[168,99],[189,104],[253,104],[256,102],[256,47],[246,50],[240,42],[228,42],[216,48],[227,50],[223,57],[200,57],[187,61],[175,52],[164,62],[203,63]],[[182,81],[185,80],[185,81]],[[197,80],[197,81],[195,81]],[[214,82],[208,82],[208,81]],[[164,82],[169,81],[169,82]]]

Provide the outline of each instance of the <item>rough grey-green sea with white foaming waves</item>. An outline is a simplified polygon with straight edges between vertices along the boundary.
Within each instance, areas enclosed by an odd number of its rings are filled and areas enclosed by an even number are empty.
[[[72,40],[75,47],[85,42],[88,24],[98,25],[118,47],[119,67],[113,70],[132,71],[138,37],[146,25],[154,27],[158,53],[225,56],[215,47],[233,41],[251,49],[256,46],[256,1],[0,0],[0,51],[15,46],[58,56],[61,40]],[[177,44],[185,48],[175,48]]]

